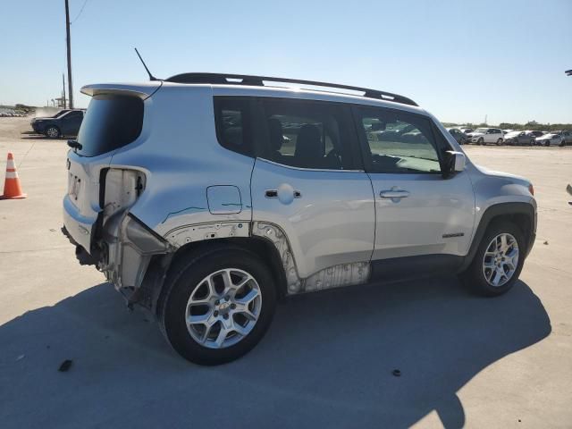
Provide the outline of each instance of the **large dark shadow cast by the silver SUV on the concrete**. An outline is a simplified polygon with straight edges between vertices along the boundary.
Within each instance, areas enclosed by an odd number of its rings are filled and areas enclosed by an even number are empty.
[[[461,427],[457,391],[551,332],[526,283],[481,299],[455,278],[288,299],[225,366],[189,364],[151,322],[102,283],[1,325],[3,427],[408,427],[433,410]]]

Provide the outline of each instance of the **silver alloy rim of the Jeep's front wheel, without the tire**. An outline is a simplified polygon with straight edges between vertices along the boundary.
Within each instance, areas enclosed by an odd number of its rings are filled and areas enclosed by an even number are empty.
[[[484,279],[498,288],[512,278],[518,266],[518,243],[511,234],[502,232],[487,246],[483,258]]]

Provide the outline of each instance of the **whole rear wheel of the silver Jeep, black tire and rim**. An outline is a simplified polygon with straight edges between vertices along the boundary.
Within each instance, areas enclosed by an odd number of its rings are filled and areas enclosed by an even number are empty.
[[[173,268],[165,281],[158,315],[164,336],[181,357],[198,365],[221,365],[242,357],[262,340],[273,319],[276,289],[272,273],[260,257],[244,248],[216,246],[191,253]],[[235,286],[247,276],[247,285],[234,292],[223,292],[227,282]],[[208,287],[206,279],[210,279],[213,288]],[[244,293],[247,295],[243,297]],[[245,306],[253,294],[255,298]],[[201,302],[207,304],[198,304]],[[256,319],[246,317],[240,307],[248,309],[248,314]],[[206,324],[188,326],[188,315],[202,316]],[[225,325],[228,333],[223,333]]]

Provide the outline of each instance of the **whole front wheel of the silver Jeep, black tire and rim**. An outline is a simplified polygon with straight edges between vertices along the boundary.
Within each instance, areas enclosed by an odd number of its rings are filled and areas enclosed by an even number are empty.
[[[499,267],[499,265],[495,264],[495,260],[497,259],[496,256],[492,256],[492,253],[496,250],[491,252],[492,248],[494,248],[493,240],[497,240],[498,244],[498,238],[503,234],[507,238],[510,236],[516,243],[516,265],[514,265],[515,256],[513,253],[515,243],[512,243],[508,247],[509,250],[506,252],[506,259],[500,261],[501,266]],[[511,239],[508,238],[506,242],[510,243]],[[461,273],[461,280],[473,290],[473,292],[485,297],[497,297],[508,292],[515,282],[517,282],[518,275],[520,275],[522,271],[526,253],[525,246],[524,235],[517,225],[509,222],[492,222],[479,243],[471,265],[468,266],[464,273]],[[512,266],[512,268],[510,268],[510,266]],[[499,274],[498,284],[493,285],[493,282],[497,280],[497,273]]]

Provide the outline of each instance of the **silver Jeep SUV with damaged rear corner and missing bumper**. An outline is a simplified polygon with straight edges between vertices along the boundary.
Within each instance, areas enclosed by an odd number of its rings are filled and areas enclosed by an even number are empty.
[[[82,92],[63,231],[192,362],[247,353],[293,294],[449,272],[501,295],[533,246],[531,183],[407,97],[214,73]]]

